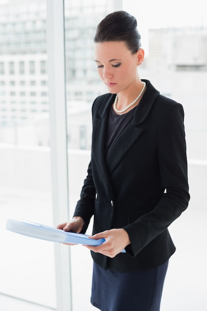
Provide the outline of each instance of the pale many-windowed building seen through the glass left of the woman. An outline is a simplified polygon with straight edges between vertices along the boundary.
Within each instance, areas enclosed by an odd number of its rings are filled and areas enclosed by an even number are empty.
[[[67,117],[71,148],[90,148],[90,139],[86,139],[90,134],[83,135],[83,129],[91,128],[91,102],[106,92],[96,73],[93,36],[97,23],[109,11],[121,8],[121,3],[116,0],[65,1]],[[11,0],[1,6],[0,142],[50,144],[46,32],[46,0]],[[87,104],[87,116],[80,124],[83,119],[77,113],[80,109],[73,109],[73,106],[83,105],[85,112]],[[71,132],[76,137],[77,124],[80,137],[72,139]]]

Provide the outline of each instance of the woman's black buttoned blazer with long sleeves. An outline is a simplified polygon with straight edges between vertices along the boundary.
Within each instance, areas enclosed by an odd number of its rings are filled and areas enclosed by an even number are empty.
[[[158,266],[175,246],[168,226],[187,208],[188,192],[184,112],[148,80],[133,120],[105,157],[105,137],[114,94],[92,106],[92,148],[74,216],[85,233],[94,215],[93,233],[124,228],[131,244],[115,258],[91,252],[104,269],[135,271]]]

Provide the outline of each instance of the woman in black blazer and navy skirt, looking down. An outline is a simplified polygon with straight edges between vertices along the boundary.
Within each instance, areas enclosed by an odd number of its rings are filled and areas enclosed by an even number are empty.
[[[73,219],[57,228],[85,233],[94,260],[91,303],[102,311],[159,311],[168,226],[188,206],[184,112],[138,76],[144,59],[137,20],[107,15],[94,37],[95,62],[109,93],[92,106],[88,174]],[[125,249],[125,252],[122,250]]]

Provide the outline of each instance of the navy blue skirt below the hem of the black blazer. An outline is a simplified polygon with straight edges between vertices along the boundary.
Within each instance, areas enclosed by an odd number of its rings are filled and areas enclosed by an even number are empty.
[[[101,311],[159,311],[168,261],[135,272],[114,272],[93,264],[91,304]]]

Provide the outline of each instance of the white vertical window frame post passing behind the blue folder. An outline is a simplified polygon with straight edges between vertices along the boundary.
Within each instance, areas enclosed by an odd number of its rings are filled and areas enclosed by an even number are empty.
[[[69,219],[64,0],[47,0],[47,51],[54,226]],[[71,311],[69,247],[55,243],[57,310]]]

